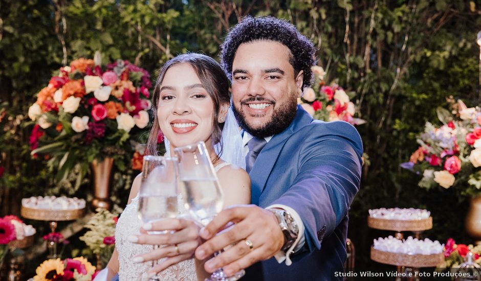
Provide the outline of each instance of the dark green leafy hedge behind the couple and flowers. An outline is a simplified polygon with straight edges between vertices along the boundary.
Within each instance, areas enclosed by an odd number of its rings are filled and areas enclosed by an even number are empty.
[[[468,198],[453,189],[419,188],[420,176],[400,163],[418,148],[425,122],[439,124],[436,107],[447,107],[450,97],[468,107],[481,102],[480,1],[1,0],[0,216],[19,215],[24,197],[92,196],[90,175],[79,189],[58,184],[46,160],[30,155],[28,108],[59,67],[100,51],[104,61],[122,58],[147,69],[154,82],[176,54],[202,52],[218,60],[227,30],[248,14],[290,20],[316,45],[325,80],[356,93],[358,117],[367,121],[357,129],[368,155],[349,212],[356,269],[379,265],[369,261],[369,247],[389,233],[367,227],[369,208],[426,208],[433,217],[426,237],[472,242],[463,225]],[[116,170],[111,194],[117,205],[125,205],[134,176],[128,168]],[[47,232],[46,223],[27,221],[38,238]],[[64,257],[86,248],[81,235],[69,238]],[[40,253],[29,262],[26,275],[43,259]]]

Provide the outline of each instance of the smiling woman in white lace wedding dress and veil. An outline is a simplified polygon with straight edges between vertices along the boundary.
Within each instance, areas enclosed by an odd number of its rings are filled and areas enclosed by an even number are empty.
[[[148,154],[157,155],[159,129],[168,139],[167,151],[203,140],[224,193],[224,206],[250,202],[249,175],[230,165],[243,166],[241,137],[239,135],[238,142],[229,143],[223,143],[224,137],[221,137],[230,135],[231,140],[231,136],[239,134],[229,110],[228,89],[228,79],[221,66],[208,56],[191,53],[169,60],[161,69],[154,89],[155,118],[147,146]],[[200,227],[187,217],[162,221],[165,230],[176,230],[160,235],[164,236],[163,247],[152,251],[150,245],[135,243],[148,243],[148,236],[142,235],[145,230],[141,230],[142,223],[137,218],[140,182],[139,175],[117,223],[116,249],[107,265],[107,280],[115,274],[120,281],[146,280],[156,273],[162,280],[204,280],[210,275],[204,271],[204,261],[193,259],[194,250],[201,244]],[[186,215],[182,204],[179,210]],[[155,259],[159,259],[159,264],[151,268],[147,261]]]

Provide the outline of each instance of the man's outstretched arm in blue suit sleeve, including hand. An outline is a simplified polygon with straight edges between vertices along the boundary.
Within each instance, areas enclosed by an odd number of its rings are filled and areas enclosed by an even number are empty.
[[[304,139],[299,173],[288,191],[272,203],[289,206],[299,214],[309,251],[321,247],[317,231],[322,229],[324,236],[334,231],[359,189],[362,154],[359,134],[347,123],[335,122],[327,127]],[[215,236],[229,221],[237,223]],[[237,242],[205,264],[208,272],[224,267],[228,275],[269,259],[285,243],[274,214],[254,205],[224,210],[201,231],[201,237],[208,241],[196,249],[199,259]]]

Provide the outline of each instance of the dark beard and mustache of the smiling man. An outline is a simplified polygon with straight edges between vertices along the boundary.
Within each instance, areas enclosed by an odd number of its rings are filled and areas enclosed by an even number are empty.
[[[297,98],[295,95],[291,95],[291,97],[292,98],[286,101],[284,104],[281,104],[278,108],[274,109],[271,119],[257,129],[252,128],[246,122],[246,114],[248,113],[244,112],[242,109],[242,104],[253,101],[267,101],[267,99],[263,97],[249,98],[241,102],[241,108],[237,108],[237,105],[234,104],[232,111],[234,112],[235,119],[242,129],[255,137],[264,138],[282,132],[289,127],[292,120],[294,120],[297,110]]]

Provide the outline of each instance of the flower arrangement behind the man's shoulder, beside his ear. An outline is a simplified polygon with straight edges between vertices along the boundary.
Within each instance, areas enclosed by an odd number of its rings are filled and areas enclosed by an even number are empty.
[[[315,83],[312,87],[304,88],[300,104],[315,119],[323,121],[346,121],[352,125],[364,124],[362,119],[354,118],[356,107],[351,98],[354,92],[346,93],[342,87],[332,83],[326,85],[324,81],[325,71],[321,66],[313,66]]]

